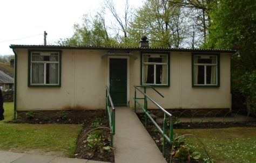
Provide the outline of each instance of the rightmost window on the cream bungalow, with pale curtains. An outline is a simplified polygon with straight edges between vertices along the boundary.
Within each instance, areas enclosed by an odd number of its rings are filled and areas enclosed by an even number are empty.
[[[193,86],[219,87],[219,55],[197,55],[193,57]]]

